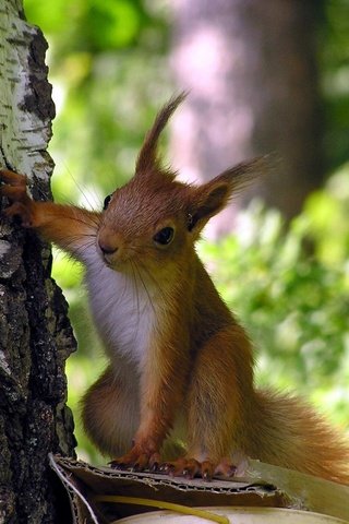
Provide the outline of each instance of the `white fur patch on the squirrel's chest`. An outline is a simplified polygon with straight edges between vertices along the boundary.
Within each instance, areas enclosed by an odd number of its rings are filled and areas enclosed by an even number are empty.
[[[87,267],[86,282],[92,312],[110,357],[115,354],[141,364],[155,325],[152,290],[99,260]]]

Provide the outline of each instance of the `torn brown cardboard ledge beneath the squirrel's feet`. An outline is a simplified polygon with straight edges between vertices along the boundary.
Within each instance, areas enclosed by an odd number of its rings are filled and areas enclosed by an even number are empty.
[[[189,507],[288,508],[347,519],[349,487],[258,461],[249,461],[246,477],[186,480],[165,474],[121,472],[49,455],[52,469],[70,496],[74,524],[109,524],[154,511],[146,507],[96,503],[97,495],[122,495]]]

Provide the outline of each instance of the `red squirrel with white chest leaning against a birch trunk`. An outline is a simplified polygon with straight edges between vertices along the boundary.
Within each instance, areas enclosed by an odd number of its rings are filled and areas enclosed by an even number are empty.
[[[36,202],[25,176],[0,171],[4,214],[86,267],[109,365],[82,401],[85,430],[115,467],[210,479],[250,456],[349,484],[344,438],[303,401],[254,385],[249,336],[196,254],[207,221],[263,160],[200,186],[178,181],[157,145],[183,98],[159,111],[133,178],[103,211]]]

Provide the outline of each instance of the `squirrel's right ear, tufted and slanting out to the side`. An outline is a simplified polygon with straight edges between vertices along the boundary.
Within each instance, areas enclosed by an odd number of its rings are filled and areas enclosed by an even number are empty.
[[[193,188],[188,229],[201,231],[209,218],[219,213],[239,191],[266,169],[266,156],[243,162],[227,169],[198,188]]]

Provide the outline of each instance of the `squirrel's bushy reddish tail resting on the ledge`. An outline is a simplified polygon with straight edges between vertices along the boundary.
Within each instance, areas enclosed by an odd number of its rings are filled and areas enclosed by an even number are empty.
[[[349,443],[302,400],[257,390],[245,453],[252,458],[349,485]]]

